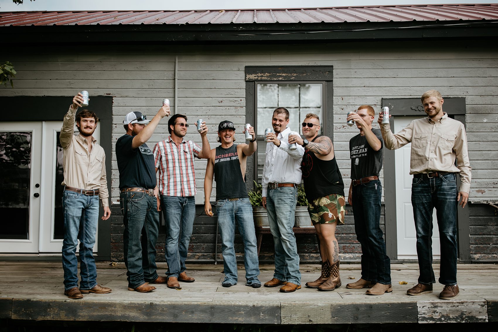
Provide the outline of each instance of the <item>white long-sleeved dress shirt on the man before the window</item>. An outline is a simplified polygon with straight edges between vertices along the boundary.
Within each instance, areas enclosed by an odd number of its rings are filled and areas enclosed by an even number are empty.
[[[299,135],[292,132],[290,128],[278,134],[280,146],[273,142],[266,143],[266,159],[263,166],[262,197],[266,197],[269,182],[278,183],[301,183],[301,161],[304,148],[297,145],[296,150],[289,150],[289,135]]]

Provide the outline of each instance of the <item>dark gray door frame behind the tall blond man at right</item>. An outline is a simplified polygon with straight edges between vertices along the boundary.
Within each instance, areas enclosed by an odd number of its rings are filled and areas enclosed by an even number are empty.
[[[443,97],[444,98],[444,97]],[[424,108],[420,98],[382,98],[382,107],[392,108],[390,127],[394,128],[393,117],[413,117],[425,116]],[[464,97],[444,98],[443,111],[448,111],[448,116],[452,119],[465,123],[466,104]],[[395,133],[394,133],[395,134]],[[384,174],[394,174],[396,167],[394,164],[394,150],[384,151]],[[457,176],[457,186],[460,185],[460,178]],[[387,202],[387,203],[386,203]],[[386,253],[392,260],[397,260],[397,226],[396,226],[396,179],[395,176],[384,176],[384,207],[385,207],[385,238]],[[467,208],[459,208],[457,214],[458,229],[458,258],[460,263],[471,262],[470,259],[470,221],[469,205]]]

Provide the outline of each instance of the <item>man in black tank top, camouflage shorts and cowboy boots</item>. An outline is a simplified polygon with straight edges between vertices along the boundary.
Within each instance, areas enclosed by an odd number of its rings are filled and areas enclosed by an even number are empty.
[[[300,135],[289,136],[289,144],[297,143],[306,150],[302,171],[304,191],[308,199],[308,212],[320,239],[322,274],[306,287],[319,291],[333,291],[341,286],[339,276],[339,245],[335,236],[336,226],[344,224],[344,182],[334,156],[334,146],[327,136],[318,135],[320,118],[306,114]]]

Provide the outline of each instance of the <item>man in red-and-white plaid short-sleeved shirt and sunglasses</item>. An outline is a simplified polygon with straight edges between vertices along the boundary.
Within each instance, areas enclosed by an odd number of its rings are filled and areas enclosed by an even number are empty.
[[[155,170],[159,170],[158,209],[163,210],[166,223],[166,272],[168,288],[180,289],[178,281],[194,282],[187,276],[185,260],[195,218],[194,157],[208,159],[211,147],[206,134],[206,122],[201,125],[202,148],[184,139],[187,134],[187,117],[173,115],[168,121],[169,137],[154,147]]]

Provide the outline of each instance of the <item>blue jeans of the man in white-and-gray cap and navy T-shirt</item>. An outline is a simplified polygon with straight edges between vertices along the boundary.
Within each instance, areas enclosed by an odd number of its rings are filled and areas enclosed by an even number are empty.
[[[120,204],[124,215],[124,264],[127,269],[128,287],[136,288],[157,279],[157,200],[143,192],[128,191],[120,194]]]

